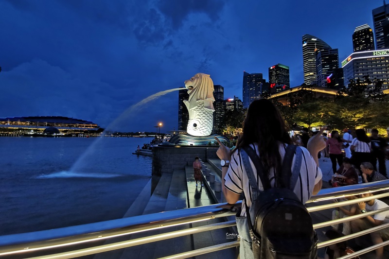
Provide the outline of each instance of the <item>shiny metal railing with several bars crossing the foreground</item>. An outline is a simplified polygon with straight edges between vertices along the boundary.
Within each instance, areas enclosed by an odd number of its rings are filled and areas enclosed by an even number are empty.
[[[335,207],[355,204],[361,201],[369,201],[371,197],[358,198],[336,202],[335,199],[344,198],[351,195],[372,192],[374,199],[389,196],[389,180],[359,184],[347,187],[338,187],[321,190],[318,195],[313,196],[307,203],[310,213],[332,209]],[[377,193],[378,192],[378,193]],[[382,193],[383,192],[383,193]],[[181,236],[193,235],[204,231],[212,231],[220,228],[227,228],[236,225],[235,221],[226,221],[215,224],[205,224],[203,226],[188,227],[181,230],[170,230],[170,227],[193,224],[196,222],[205,222],[216,218],[225,218],[235,215],[241,206],[241,202],[235,205],[216,204],[203,207],[186,208],[174,211],[159,212],[148,215],[135,216],[84,224],[78,226],[64,227],[58,229],[44,230],[31,233],[22,233],[8,236],[0,236],[0,258],[75,258],[86,255],[93,255],[102,252],[133,247],[150,242],[158,242]],[[371,211],[342,219],[330,220],[314,224],[314,229],[328,227],[334,224],[342,224],[354,219],[373,215],[378,212],[387,211],[388,208],[378,211]],[[388,224],[382,224],[371,229],[363,230],[348,236],[335,240],[319,242],[318,248],[325,247],[334,243],[344,242],[356,237],[366,235],[373,231],[378,231],[389,227]],[[167,230],[160,233],[155,230]],[[156,233],[157,232],[157,233]],[[144,237],[134,237],[134,234],[143,234]],[[115,240],[121,238],[121,240]],[[108,243],[110,241],[110,243]],[[342,257],[341,259],[354,258],[357,255],[368,253],[379,247],[386,246],[389,241],[367,247],[357,251],[352,255]],[[215,252],[239,246],[239,240],[212,245],[209,247],[194,249],[185,253],[175,254],[164,258],[190,258],[201,254]]]

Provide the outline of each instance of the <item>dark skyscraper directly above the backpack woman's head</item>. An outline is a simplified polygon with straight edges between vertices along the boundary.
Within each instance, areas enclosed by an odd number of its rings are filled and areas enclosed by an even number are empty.
[[[243,106],[248,106],[261,97],[261,88],[263,83],[262,73],[243,72]]]

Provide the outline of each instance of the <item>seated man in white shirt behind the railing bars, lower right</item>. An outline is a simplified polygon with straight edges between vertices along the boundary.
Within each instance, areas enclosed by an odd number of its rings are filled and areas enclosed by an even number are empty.
[[[370,197],[373,196],[371,192],[361,194],[362,197]],[[372,199],[367,202],[360,202],[358,203],[359,211],[357,210],[356,213],[366,213],[368,211],[378,210],[381,208],[389,207],[386,203],[380,200]],[[358,213],[359,212],[359,213]],[[382,224],[389,223],[389,210],[376,213],[372,216],[367,216],[365,218],[353,220],[351,222],[351,228],[353,229],[353,232],[359,232],[362,230],[366,230],[375,226],[379,226]],[[375,232],[370,233],[371,241],[374,244],[379,244],[384,241],[389,240],[389,229],[384,228]],[[377,259],[383,259],[384,257],[384,248],[380,247],[375,250]]]

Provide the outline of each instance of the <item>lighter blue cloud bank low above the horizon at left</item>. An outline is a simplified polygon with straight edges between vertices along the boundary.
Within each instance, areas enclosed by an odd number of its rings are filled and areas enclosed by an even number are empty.
[[[103,82],[85,82],[60,67],[43,60],[33,60],[1,72],[3,94],[1,117],[66,116],[107,123],[114,116],[112,86]]]

